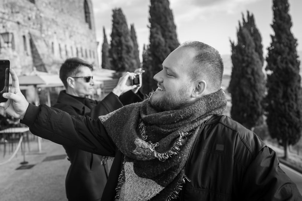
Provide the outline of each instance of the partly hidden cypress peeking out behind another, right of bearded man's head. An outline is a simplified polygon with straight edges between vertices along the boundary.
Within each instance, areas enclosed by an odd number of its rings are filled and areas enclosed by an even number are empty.
[[[259,55],[261,64],[263,66],[264,58],[263,58],[262,38],[261,38],[258,28],[256,27],[254,15],[250,14],[249,11],[247,11],[246,18],[247,18],[247,20],[245,20],[244,15],[242,14],[243,27],[245,27],[251,34],[252,39],[255,43],[255,51]]]

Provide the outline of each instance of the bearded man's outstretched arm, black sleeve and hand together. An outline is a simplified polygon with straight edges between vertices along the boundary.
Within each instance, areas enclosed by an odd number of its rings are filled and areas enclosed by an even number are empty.
[[[12,88],[3,94],[8,100],[0,103],[0,107],[14,118],[21,119],[21,123],[26,124],[34,135],[88,152],[114,156],[115,145],[99,120],[72,116],[46,105],[29,104],[20,91],[13,69],[10,69],[10,74]]]

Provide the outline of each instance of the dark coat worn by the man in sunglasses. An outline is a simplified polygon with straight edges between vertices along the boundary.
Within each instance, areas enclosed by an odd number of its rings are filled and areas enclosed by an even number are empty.
[[[121,96],[123,103],[141,101],[134,93]],[[102,101],[85,98],[80,102],[63,90],[59,93],[54,108],[66,111],[70,115],[87,115],[93,119],[106,115],[123,106],[120,99],[109,93]],[[69,200],[100,200],[107,182],[110,167],[101,165],[103,156],[78,149],[76,146],[63,145],[66,150],[70,167],[68,169],[65,187]]]

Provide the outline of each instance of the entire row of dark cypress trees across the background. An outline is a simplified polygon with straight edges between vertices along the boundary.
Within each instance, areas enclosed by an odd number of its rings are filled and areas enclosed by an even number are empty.
[[[231,118],[253,130],[266,123],[272,138],[284,147],[296,144],[302,131],[302,93],[297,40],[291,33],[288,0],[272,0],[274,35],[263,55],[261,34],[252,13],[247,11],[239,21],[237,43],[230,40],[232,74],[228,91],[232,98]],[[102,46],[102,68],[133,71],[142,67],[143,93],[157,88],[153,75],[162,69],[162,62],[179,46],[169,0],[150,0],[149,44],[143,45],[139,59],[134,24],[127,25],[120,8],[113,10],[111,42],[105,29]]]

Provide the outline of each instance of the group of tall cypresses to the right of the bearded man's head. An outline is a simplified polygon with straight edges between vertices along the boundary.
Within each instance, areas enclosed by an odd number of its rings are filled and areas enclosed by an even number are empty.
[[[267,48],[266,66],[253,15],[247,12],[247,19],[243,16],[239,22],[237,44],[230,41],[233,67],[228,90],[232,97],[231,117],[251,130],[266,123],[287,159],[289,145],[300,140],[302,131],[300,61],[297,39],[291,33],[288,0],[273,0],[272,10],[275,34]]]

